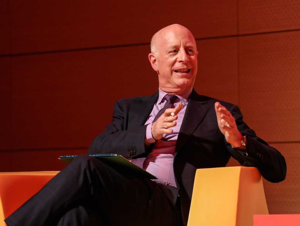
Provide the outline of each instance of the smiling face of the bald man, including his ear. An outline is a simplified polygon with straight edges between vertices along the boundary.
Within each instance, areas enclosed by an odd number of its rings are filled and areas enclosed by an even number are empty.
[[[169,28],[169,29],[168,29]],[[197,73],[195,39],[187,28],[169,26],[157,39],[157,51],[149,59],[158,72],[161,90],[180,94],[193,87]],[[153,61],[154,60],[154,61]]]

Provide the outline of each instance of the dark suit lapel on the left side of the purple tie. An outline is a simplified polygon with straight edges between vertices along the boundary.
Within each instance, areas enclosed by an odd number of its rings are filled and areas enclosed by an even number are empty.
[[[128,129],[145,124],[157,99],[158,92],[152,96],[139,97],[133,101],[128,115]]]

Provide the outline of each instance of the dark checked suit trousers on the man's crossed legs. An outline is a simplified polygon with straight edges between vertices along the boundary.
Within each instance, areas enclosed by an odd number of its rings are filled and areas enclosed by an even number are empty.
[[[9,226],[181,225],[175,204],[178,190],[172,188],[117,171],[94,157],[79,156],[5,222]]]

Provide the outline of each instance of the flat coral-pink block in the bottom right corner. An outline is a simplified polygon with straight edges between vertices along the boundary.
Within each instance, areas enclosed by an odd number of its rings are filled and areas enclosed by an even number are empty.
[[[253,226],[300,226],[300,214],[253,215]]]

